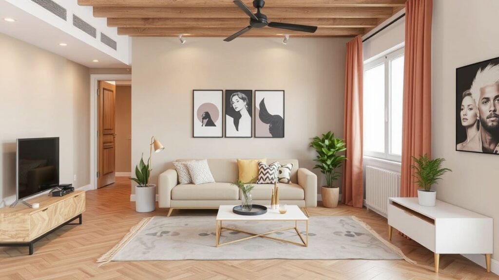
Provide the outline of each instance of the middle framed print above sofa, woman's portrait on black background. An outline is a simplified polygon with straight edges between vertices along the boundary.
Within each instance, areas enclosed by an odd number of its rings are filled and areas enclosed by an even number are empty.
[[[251,138],[252,104],[251,90],[225,91],[225,137]]]

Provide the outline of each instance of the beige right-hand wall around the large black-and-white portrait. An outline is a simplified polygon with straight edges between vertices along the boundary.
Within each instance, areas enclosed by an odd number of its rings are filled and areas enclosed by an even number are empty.
[[[497,0],[433,2],[433,156],[453,170],[437,197],[490,216],[499,252],[499,155],[456,151],[456,68],[498,57]],[[499,260],[497,254],[493,256]]]

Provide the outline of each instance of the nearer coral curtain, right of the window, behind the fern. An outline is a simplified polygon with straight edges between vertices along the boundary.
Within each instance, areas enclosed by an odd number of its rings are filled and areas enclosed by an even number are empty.
[[[416,197],[411,156],[432,151],[432,9],[433,0],[406,2],[402,177],[400,195]]]

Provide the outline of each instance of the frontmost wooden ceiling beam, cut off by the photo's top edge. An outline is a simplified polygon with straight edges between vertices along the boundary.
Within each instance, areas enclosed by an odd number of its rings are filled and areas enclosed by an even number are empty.
[[[398,7],[406,0],[268,0],[265,7]],[[252,7],[252,0],[243,0]],[[78,0],[94,7],[231,7],[232,0]]]

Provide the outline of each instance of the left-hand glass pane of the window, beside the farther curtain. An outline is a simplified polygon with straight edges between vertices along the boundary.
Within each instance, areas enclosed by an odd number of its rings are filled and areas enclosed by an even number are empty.
[[[364,72],[364,150],[385,152],[385,64]]]

